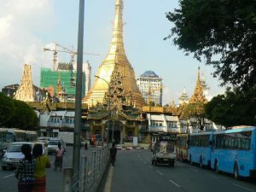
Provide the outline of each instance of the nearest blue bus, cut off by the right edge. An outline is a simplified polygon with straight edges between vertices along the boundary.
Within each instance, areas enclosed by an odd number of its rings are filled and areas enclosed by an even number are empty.
[[[236,178],[256,175],[256,126],[231,127],[212,136],[212,169]]]

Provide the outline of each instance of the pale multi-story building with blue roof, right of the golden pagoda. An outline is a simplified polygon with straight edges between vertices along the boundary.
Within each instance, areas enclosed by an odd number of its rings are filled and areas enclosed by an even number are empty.
[[[162,105],[162,79],[153,71],[146,71],[137,79],[137,86],[145,101],[150,104]]]

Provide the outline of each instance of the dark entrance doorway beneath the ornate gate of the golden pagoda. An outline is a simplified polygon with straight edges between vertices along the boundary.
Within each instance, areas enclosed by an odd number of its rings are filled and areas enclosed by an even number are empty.
[[[106,127],[106,136],[108,135],[108,142],[112,143],[113,141],[116,144],[123,143],[123,124],[119,121],[108,121],[105,124]],[[109,127],[109,130],[108,130]],[[114,139],[114,140],[113,140]]]

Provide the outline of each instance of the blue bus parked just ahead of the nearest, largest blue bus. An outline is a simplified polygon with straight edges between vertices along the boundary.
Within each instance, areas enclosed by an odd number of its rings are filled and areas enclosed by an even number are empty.
[[[190,164],[198,163],[201,167],[211,166],[212,132],[204,131],[189,135],[188,160]]]

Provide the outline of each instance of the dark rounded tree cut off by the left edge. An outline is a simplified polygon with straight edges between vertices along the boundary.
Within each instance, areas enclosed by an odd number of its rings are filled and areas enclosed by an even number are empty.
[[[15,105],[11,98],[0,93],[0,125],[6,126],[6,122],[14,115]]]

